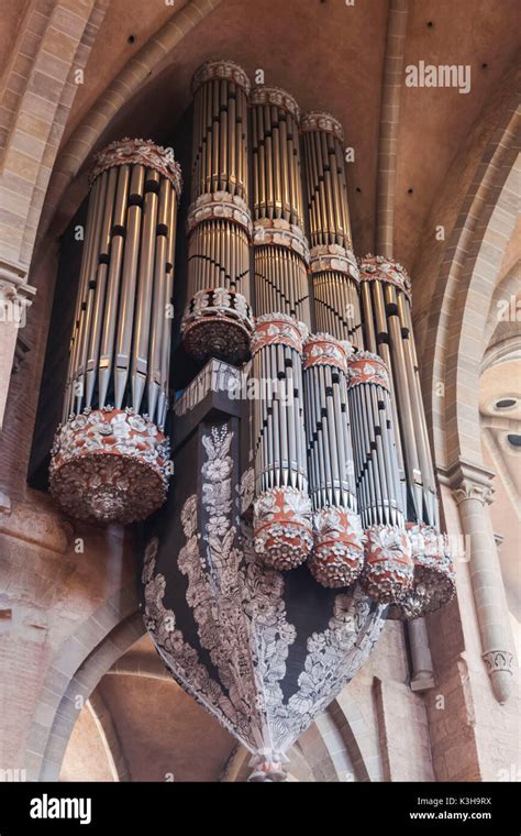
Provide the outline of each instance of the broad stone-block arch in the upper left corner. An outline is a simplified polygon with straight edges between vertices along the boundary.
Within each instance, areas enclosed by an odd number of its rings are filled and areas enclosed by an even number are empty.
[[[11,234],[1,261],[26,273],[44,196],[78,86],[103,21],[108,0],[31,3],[19,48],[4,73],[1,109],[0,195],[9,206]],[[25,61],[24,61],[25,58]],[[29,62],[27,62],[29,58]]]

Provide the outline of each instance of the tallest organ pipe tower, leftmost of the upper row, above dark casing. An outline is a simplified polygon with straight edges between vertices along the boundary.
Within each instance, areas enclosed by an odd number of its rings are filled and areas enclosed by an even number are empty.
[[[250,307],[247,96],[244,70],[210,61],[195,74],[185,348],[198,360],[243,362]]]

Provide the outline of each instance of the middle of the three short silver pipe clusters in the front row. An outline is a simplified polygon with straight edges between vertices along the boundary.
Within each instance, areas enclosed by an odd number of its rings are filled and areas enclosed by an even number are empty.
[[[308,565],[324,586],[348,586],[364,565],[347,403],[350,343],[314,334],[303,346],[306,436],[314,550]]]

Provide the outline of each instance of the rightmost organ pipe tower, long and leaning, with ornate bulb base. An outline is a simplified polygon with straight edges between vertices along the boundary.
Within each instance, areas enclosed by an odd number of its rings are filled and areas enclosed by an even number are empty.
[[[391,618],[414,618],[451,600],[455,590],[447,538],[440,534],[434,468],[421,398],[411,318],[411,284],[391,258],[367,255],[359,262],[366,345],[389,374],[392,425],[406,529],[412,549],[413,584],[389,609]]]

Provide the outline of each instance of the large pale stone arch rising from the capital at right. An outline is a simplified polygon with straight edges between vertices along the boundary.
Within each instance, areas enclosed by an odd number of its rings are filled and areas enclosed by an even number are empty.
[[[512,95],[514,80],[509,76],[502,95],[498,96],[500,113],[496,112],[496,130],[477,161],[437,273],[431,274],[434,286],[426,288],[431,289],[430,310],[426,321],[421,323],[424,341],[420,350],[434,458],[442,468],[450,468],[459,459],[481,461],[479,413],[474,402],[489,300],[502,257],[497,244],[490,246],[498,235],[497,222],[503,211],[500,208],[495,216],[494,210],[518,155],[520,116]],[[476,138],[477,143],[481,140],[480,135]],[[457,172],[459,166],[461,161],[455,161],[453,170]],[[447,191],[451,188],[450,185]],[[507,189],[510,191],[511,187]],[[446,197],[454,201],[454,196]],[[434,207],[433,217],[441,211],[440,206]],[[499,232],[505,243],[516,222],[511,209],[507,215],[507,229]],[[440,383],[444,384],[442,397]]]

